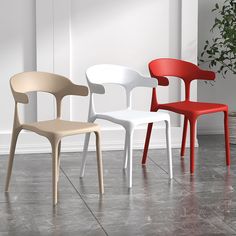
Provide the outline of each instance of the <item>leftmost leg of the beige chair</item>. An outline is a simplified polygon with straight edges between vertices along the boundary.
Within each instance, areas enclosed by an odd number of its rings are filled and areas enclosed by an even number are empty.
[[[6,184],[5,184],[5,192],[8,192],[9,189],[9,183],[11,179],[11,173],[12,173],[12,166],[15,156],[15,149],[16,149],[16,142],[20,131],[13,129],[12,137],[11,137],[11,147],[10,147],[10,155],[9,155],[9,161],[8,161],[8,169],[7,169],[7,178],[6,178]]]

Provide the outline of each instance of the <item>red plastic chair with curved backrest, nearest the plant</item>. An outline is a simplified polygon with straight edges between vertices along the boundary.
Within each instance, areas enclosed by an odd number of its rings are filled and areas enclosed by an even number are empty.
[[[179,77],[185,84],[185,100],[174,103],[158,104],[156,96],[156,88],[152,92],[151,111],[159,109],[176,112],[184,115],[184,129],[181,146],[181,156],[185,153],[185,143],[188,128],[190,123],[190,172],[194,173],[194,142],[196,121],[200,115],[224,112],[224,129],[225,129],[225,149],[226,149],[226,165],[230,165],[230,146],[229,146],[229,131],[228,131],[228,106],[224,104],[203,103],[190,101],[190,84],[193,80],[214,80],[215,73],[212,71],[201,70],[198,66],[177,59],[161,58],[149,63],[149,71],[152,77],[158,80],[159,85],[168,86],[169,80],[165,76]],[[146,141],[143,152],[142,164],[146,164],[147,152],[152,132],[152,123],[148,124]]]

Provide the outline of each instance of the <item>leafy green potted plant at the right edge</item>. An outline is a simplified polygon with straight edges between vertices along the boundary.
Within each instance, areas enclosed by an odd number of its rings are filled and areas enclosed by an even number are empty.
[[[225,0],[222,6],[215,4],[216,13],[211,41],[206,40],[199,61],[223,78],[236,75],[236,0]],[[236,144],[236,112],[229,113],[230,142]]]

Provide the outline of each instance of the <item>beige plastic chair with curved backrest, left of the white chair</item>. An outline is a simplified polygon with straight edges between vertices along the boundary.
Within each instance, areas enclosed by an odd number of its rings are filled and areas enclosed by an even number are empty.
[[[8,191],[18,135],[22,129],[33,131],[46,137],[52,146],[52,185],[53,204],[57,203],[57,183],[59,180],[61,139],[75,134],[91,133],[96,135],[97,165],[100,193],[104,193],[102,157],[100,151],[100,129],[97,124],[61,120],[61,101],[67,95],[87,96],[88,88],[73,84],[69,79],[45,72],[25,72],[13,76],[10,80],[15,99],[15,115],[5,191]],[[28,103],[27,92],[47,92],[56,98],[57,117],[54,120],[22,124],[18,115],[18,103]]]

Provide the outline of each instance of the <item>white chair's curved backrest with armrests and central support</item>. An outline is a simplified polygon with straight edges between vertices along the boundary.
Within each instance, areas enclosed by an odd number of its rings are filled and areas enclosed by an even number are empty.
[[[93,109],[93,93],[104,94],[104,84],[117,84],[125,88],[127,108],[131,108],[131,91],[135,87],[151,87],[157,86],[156,79],[147,78],[138,72],[120,65],[100,64],[94,65],[87,69],[86,77],[91,93],[91,103]],[[92,111],[92,113],[94,113]]]

